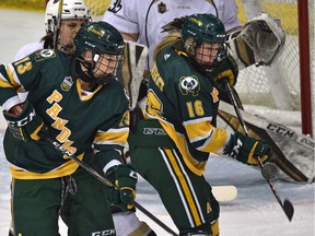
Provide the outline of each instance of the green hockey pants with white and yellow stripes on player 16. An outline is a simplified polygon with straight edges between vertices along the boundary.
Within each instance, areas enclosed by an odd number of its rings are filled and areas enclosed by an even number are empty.
[[[179,235],[197,231],[219,235],[220,209],[210,185],[203,176],[189,170],[167,135],[142,134],[148,123],[159,127],[148,121],[140,121],[137,132],[129,137],[132,165],[159,192]]]

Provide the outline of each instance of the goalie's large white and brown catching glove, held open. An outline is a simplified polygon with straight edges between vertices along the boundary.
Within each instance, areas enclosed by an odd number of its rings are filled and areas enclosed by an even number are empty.
[[[270,66],[280,56],[285,33],[280,21],[261,13],[248,21],[242,32],[232,33],[226,42],[228,52],[236,60],[240,69]]]

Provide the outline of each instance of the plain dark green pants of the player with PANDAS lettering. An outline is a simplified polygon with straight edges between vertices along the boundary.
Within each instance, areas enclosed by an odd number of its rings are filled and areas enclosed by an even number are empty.
[[[69,236],[116,235],[106,188],[86,170],[55,179],[13,179],[15,235],[59,236],[59,213]]]

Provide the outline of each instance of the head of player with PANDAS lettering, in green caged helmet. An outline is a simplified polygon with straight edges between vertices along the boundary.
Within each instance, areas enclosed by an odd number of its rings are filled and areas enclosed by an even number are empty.
[[[77,72],[86,83],[109,83],[122,67],[122,36],[106,22],[83,25],[75,35],[74,45]]]

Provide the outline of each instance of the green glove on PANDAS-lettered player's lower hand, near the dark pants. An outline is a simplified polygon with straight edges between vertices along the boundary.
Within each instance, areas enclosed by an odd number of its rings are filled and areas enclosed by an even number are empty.
[[[131,165],[118,165],[110,167],[106,177],[115,185],[116,189],[108,189],[107,200],[121,210],[131,210],[136,198],[137,172]]]

